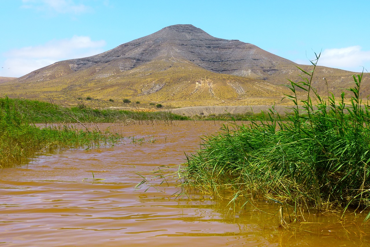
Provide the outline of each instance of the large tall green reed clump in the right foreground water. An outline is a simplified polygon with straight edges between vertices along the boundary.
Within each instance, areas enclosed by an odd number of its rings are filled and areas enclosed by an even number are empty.
[[[354,87],[339,101],[333,94],[323,99],[312,87],[316,63],[310,72],[300,69],[302,81],[287,85],[292,94],[286,97],[295,105],[288,121],[272,108],[251,116],[248,126],[224,126],[204,138],[202,149],[187,157],[184,187],[260,196],[295,210],[368,207],[370,106],[360,98],[362,74],[353,76]],[[299,100],[298,90],[305,99]]]

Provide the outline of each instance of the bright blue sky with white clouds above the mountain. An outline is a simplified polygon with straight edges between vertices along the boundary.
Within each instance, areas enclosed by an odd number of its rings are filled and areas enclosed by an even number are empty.
[[[0,76],[95,55],[174,24],[300,64],[370,72],[369,0],[0,0]]]

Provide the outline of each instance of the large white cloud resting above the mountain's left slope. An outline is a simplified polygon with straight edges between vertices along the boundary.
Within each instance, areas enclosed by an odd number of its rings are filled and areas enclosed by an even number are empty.
[[[87,57],[103,52],[105,41],[73,36],[71,39],[52,40],[45,45],[10,50],[1,65],[0,76],[19,77],[60,60]]]

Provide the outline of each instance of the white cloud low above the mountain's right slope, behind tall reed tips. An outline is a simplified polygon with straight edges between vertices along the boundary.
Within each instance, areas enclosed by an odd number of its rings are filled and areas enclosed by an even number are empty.
[[[296,60],[296,63],[308,64],[307,60]],[[325,49],[321,53],[317,65],[353,72],[362,72],[364,67],[369,71],[370,51],[362,50],[361,46]]]

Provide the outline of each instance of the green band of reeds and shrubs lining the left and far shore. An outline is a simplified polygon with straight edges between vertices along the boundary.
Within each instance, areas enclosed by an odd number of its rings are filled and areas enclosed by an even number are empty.
[[[52,101],[51,101],[52,102]],[[170,111],[146,112],[139,109],[92,109],[83,104],[63,107],[54,103],[28,99],[0,98],[0,168],[29,161],[35,154],[56,148],[91,148],[114,144],[122,136],[109,130],[88,131],[88,123],[119,123],[121,125],[154,123],[172,124],[181,120],[247,119],[249,115],[223,115],[191,119]],[[42,123],[44,128],[35,124]],[[76,129],[70,123],[84,128]]]

